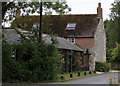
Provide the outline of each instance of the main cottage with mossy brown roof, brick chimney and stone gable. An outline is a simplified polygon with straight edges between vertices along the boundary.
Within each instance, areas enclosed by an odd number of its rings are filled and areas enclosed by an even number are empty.
[[[25,19],[28,19],[26,21]],[[24,29],[39,27],[39,16],[17,17],[15,22],[22,21]],[[54,33],[65,38],[69,42],[77,45],[88,52],[86,57],[89,70],[95,70],[95,62],[106,61],[106,34],[103,23],[101,3],[98,4],[97,14],[77,14],[77,15],[50,15],[43,16],[43,32]],[[47,28],[46,28],[47,27]]]

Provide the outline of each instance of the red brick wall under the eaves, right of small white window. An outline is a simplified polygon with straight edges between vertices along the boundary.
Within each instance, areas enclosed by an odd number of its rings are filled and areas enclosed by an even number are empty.
[[[94,47],[95,41],[94,38],[75,38],[75,43],[89,49]]]

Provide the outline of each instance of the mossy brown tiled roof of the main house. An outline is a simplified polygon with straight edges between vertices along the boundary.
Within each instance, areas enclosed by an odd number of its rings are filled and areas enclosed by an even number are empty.
[[[33,23],[40,22],[39,16],[26,16],[25,18],[30,20],[26,21],[26,23],[29,22],[27,29],[30,29]],[[97,14],[50,15],[42,18],[43,27],[48,25],[47,28],[60,37],[94,37],[98,25]],[[75,30],[66,30],[68,23],[76,23]]]

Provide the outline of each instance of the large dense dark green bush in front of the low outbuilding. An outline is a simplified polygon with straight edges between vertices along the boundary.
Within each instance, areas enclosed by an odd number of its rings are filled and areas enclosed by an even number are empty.
[[[13,48],[16,59],[11,58]],[[18,45],[3,43],[3,82],[54,81],[61,54],[53,44],[23,41]]]

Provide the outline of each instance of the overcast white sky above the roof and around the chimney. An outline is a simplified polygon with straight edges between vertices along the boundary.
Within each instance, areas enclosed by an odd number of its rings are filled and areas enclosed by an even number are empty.
[[[97,14],[98,3],[103,8],[103,19],[109,19],[111,3],[114,0],[67,0],[67,4],[72,8],[71,14]]]

